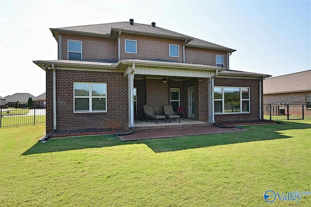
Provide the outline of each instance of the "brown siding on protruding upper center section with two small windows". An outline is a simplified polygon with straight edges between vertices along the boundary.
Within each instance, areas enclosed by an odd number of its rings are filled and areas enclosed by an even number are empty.
[[[125,39],[137,41],[137,54],[125,53]],[[179,57],[169,56],[169,45],[179,45]],[[164,59],[183,62],[183,41],[121,34],[121,59]]]

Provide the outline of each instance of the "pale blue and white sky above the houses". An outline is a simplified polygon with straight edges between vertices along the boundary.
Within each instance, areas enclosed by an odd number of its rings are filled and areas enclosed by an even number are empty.
[[[56,60],[49,28],[128,21],[236,49],[230,69],[311,69],[311,1],[0,0],[0,96],[45,92],[35,60]]]

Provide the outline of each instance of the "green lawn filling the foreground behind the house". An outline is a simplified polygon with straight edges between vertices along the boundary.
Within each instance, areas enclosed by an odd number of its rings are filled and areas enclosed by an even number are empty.
[[[247,132],[121,142],[37,143],[44,125],[0,128],[3,206],[294,206],[267,190],[311,191],[311,121]],[[299,205],[308,206],[311,195]]]

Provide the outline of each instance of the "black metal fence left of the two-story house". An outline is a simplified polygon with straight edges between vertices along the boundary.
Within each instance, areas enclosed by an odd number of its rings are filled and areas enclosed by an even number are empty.
[[[45,123],[45,107],[0,109],[0,127]]]

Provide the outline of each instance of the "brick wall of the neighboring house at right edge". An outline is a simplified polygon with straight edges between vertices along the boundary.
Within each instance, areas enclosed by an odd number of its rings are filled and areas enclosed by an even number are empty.
[[[307,94],[311,94],[311,91],[309,92],[299,92],[299,93],[286,93],[286,94],[269,94],[269,95],[263,95],[263,102],[264,104],[279,104],[279,103],[285,103],[285,104],[298,104],[298,105],[306,105],[306,97]]]

